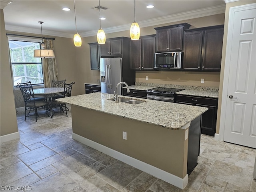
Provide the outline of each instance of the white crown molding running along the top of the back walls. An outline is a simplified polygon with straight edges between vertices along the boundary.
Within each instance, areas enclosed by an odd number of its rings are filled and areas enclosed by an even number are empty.
[[[138,22],[138,24],[140,25],[140,28],[156,26],[156,25],[167,24],[171,22],[178,22],[178,21],[184,21],[184,20],[193,19],[193,18],[200,18],[205,16],[222,14],[222,13],[225,13],[225,9],[226,9],[226,6],[215,6],[215,7],[210,7],[206,9],[198,9],[190,12],[184,12],[180,14],[154,18],[151,20],[140,21]],[[120,26],[114,26],[111,28],[104,28],[104,32],[107,34],[107,33],[130,30],[130,25],[131,24],[124,24]],[[32,28],[16,27],[16,26],[10,26],[10,25],[6,25],[5,27],[6,27],[6,31],[17,31],[17,32],[41,34],[40,30],[35,30]],[[98,32],[98,29],[88,31],[88,32],[80,32],[79,34],[81,37],[89,37],[89,36],[96,35],[97,32]],[[68,33],[60,33],[60,32],[54,32],[54,31],[46,31],[46,30],[44,30],[43,34],[49,35],[49,36],[66,37],[66,38],[73,38],[74,36],[73,33],[68,34]]]

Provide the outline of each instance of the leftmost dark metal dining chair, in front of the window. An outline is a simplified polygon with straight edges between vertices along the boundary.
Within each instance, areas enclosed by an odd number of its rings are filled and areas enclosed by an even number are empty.
[[[34,96],[34,90],[33,87],[29,83],[23,83],[20,84],[18,83],[18,87],[20,88],[20,91],[22,93],[23,96],[23,100],[25,103],[25,121],[26,121],[26,117],[28,117],[28,115],[30,114],[31,110],[35,111],[35,115],[36,115],[36,122],[37,122],[37,118],[38,118],[38,108],[44,108],[45,110],[49,109],[49,104],[48,102],[46,102],[45,100],[36,100],[35,96]],[[28,114],[27,111],[29,110]]]

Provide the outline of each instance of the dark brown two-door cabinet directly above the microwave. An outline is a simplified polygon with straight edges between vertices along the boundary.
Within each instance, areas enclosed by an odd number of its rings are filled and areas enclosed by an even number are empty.
[[[182,23],[154,28],[156,30],[156,52],[182,51],[184,30],[190,24]]]

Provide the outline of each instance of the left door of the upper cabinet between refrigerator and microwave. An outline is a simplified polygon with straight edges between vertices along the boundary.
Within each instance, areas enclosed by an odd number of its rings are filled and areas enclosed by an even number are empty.
[[[131,69],[140,70],[141,64],[141,39],[131,40]]]

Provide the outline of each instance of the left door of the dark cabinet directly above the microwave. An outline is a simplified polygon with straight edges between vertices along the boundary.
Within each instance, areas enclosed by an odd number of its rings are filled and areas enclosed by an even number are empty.
[[[156,31],[156,52],[167,52],[169,46],[169,29]]]

